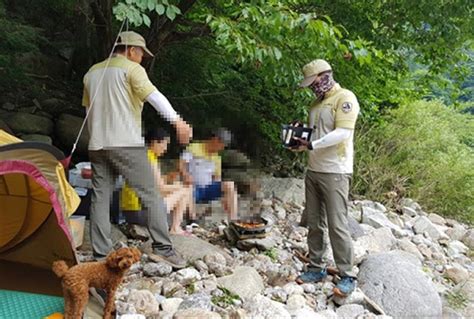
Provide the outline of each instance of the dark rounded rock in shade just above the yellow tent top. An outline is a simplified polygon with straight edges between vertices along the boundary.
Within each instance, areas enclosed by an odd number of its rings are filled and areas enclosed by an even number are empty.
[[[6,119],[6,122],[15,133],[41,135],[53,133],[53,121],[34,114],[14,113]]]

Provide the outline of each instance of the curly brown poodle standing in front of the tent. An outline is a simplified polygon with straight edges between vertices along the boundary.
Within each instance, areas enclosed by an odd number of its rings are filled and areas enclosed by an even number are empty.
[[[137,248],[123,247],[111,252],[105,261],[83,263],[69,268],[63,260],[53,263],[54,273],[62,279],[64,317],[82,318],[89,300],[89,287],[105,289],[107,301],[104,318],[112,318],[115,310],[115,291],[125,272],[137,261],[141,253]]]

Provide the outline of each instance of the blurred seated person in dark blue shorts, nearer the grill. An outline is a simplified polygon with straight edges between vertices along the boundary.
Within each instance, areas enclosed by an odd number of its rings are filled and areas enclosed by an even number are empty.
[[[230,132],[220,128],[209,139],[189,144],[181,155],[179,171],[185,185],[194,186],[196,203],[222,198],[224,210],[231,220],[235,220],[237,191],[234,182],[221,182],[221,158],[218,154],[230,141]]]

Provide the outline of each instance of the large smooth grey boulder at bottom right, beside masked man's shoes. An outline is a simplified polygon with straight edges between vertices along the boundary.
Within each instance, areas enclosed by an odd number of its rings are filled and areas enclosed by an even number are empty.
[[[403,251],[370,255],[360,266],[360,289],[394,318],[440,318],[441,299],[421,270],[421,262]]]

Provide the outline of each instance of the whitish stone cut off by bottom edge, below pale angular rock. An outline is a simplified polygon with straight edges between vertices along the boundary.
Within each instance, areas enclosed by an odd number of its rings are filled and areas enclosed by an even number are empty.
[[[244,309],[250,318],[291,319],[291,315],[284,304],[270,300],[260,294],[245,302]]]

